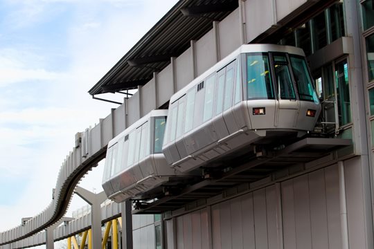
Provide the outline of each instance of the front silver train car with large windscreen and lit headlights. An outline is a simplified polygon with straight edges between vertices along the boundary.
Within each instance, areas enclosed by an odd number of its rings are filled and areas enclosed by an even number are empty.
[[[163,154],[189,172],[314,129],[321,104],[303,50],[243,45],[172,96]]]

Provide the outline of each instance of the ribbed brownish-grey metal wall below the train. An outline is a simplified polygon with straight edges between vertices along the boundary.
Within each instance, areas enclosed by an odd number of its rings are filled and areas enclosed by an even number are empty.
[[[166,221],[168,248],[338,249],[339,210],[332,165]]]

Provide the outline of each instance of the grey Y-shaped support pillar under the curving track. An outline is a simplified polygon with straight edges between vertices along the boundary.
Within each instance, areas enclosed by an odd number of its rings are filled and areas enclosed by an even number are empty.
[[[101,248],[101,208],[100,204],[107,199],[104,192],[95,194],[77,186],[75,194],[91,205],[91,243],[93,249]]]

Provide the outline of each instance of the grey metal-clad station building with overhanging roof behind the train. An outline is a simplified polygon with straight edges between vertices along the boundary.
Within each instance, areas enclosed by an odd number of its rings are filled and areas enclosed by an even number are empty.
[[[180,0],[89,93],[137,89],[118,107],[128,127],[255,43],[303,48],[323,107],[315,133],[352,144],[133,210],[134,248],[374,248],[374,1]]]

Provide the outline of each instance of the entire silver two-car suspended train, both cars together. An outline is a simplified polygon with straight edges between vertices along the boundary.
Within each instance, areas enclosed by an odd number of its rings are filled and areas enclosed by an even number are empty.
[[[103,188],[116,202],[147,199],[218,158],[305,135],[320,111],[303,50],[242,45],[172,95],[169,111],[151,111],[109,142]]]

